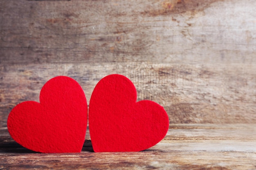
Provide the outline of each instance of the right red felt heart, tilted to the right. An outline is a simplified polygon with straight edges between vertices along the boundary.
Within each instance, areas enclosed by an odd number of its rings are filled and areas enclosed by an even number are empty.
[[[159,104],[136,102],[132,82],[108,75],[94,88],[89,104],[89,128],[94,152],[141,151],[166,135],[169,119]]]

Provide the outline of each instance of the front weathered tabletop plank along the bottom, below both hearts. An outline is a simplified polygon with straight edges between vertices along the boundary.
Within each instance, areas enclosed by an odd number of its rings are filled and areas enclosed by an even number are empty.
[[[255,152],[139,152],[16,154],[2,157],[4,169],[255,169]],[[36,159],[35,159],[36,158]]]

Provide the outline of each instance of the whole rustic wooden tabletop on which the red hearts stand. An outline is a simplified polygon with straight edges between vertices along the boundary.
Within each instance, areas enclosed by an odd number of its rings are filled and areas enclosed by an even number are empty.
[[[16,144],[1,128],[2,169],[173,169],[253,170],[255,124],[170,124],[166,137],[142,152],[92,150],[90,136],[81,153],[40,154]]]

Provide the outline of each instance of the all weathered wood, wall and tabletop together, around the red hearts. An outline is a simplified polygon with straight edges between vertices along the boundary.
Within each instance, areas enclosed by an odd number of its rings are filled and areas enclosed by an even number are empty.
[[[79,82],[89,104],[97,82],[118,73],[135,84],[138,101],[164,106],[169,135],[144,153],[83,150],[76,163],[84,157],[97,168],[92,161],[110,157],[98,168],[255,169],[255,7],[255,0],[1,0],[0,166],[42,168],[36,159],[55,157],[56,166],[43,167],[67,168],[60,162],[77,155],[33,154],[11,139],[10,110],[39,101],[43,84],[57,75]]]

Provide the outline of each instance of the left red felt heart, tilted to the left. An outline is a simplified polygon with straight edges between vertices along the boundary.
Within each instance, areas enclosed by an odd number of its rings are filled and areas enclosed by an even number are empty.
[[[20,145],[43,153],[81,152],[87,127],[87,102],[72,78],[50,79],[40,103],[22,102],[9,114],[7,127]]]

